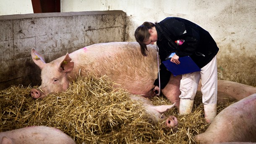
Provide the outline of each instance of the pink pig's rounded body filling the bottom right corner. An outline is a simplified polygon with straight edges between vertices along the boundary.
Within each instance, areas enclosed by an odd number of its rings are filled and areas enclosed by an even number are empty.
[[[256,93],[222,110],[202,134],[199,144],[222,142],[256,142]]]

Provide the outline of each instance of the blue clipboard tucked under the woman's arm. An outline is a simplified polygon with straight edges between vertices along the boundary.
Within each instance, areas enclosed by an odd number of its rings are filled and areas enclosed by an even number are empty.
[[[173,75],[182,75],[190,72],[201,71],[201,69],[196,65],[196,63],[191,59],[191,57],[180,57],[180,64],[175,64],[170,62],[170,59],[164,61],[163,64],[165,67],[172,72]]]

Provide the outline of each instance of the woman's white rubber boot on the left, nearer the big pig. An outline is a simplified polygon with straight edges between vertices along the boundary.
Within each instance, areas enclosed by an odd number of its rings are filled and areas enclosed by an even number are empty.
[[[194,100],[180,99],[179,114],[186,115],[192,112]]]

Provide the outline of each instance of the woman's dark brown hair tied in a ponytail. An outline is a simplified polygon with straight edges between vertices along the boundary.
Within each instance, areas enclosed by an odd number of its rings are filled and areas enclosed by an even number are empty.
[[[144,41],[149,40],[149,29],[154,27],[155,24],[151,22],[144,22],[141,26],[136,28],[134,36],[136,41],[140,44],[141,46],[141,54],[143,56],[147,56],[146,51],[148,51],[146,44],[144,44]]]

